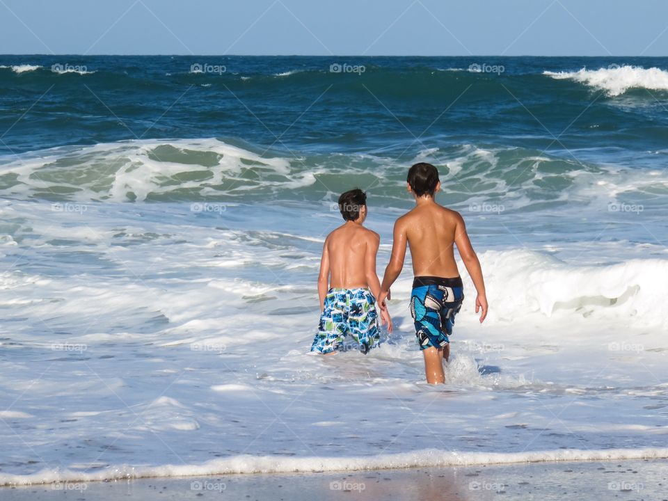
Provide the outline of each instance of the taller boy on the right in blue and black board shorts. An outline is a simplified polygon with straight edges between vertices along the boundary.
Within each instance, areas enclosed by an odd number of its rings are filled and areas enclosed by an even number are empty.
[[[443,358],[450,356],[450,339],[454,316],[464,299],[463,285],[454,260],[454,245],[470,274],[477,291],[475,312],[482,310],[480,322],[487,316],[487,298],[480,262],[466,233],[459,214],[436,203],[434,195],[440,190],[438,170],[421,162],[408,170],[407,189],[415,198],[415,207],[395,223],[390,263],[385,269],[381,293],[381,308],[390,296],[390,287],[406,257],[406,243],[413,258],[413,291],[411,316],[415,335],[424,355],[427,382],[445,383]]]

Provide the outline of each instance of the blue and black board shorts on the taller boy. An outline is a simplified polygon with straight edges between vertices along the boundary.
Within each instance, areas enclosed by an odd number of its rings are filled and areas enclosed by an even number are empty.
[[[442,349],[450,342],[454,316],[461,309],[461,277],[417,276],[411,292],[411,317],[420,349]]]

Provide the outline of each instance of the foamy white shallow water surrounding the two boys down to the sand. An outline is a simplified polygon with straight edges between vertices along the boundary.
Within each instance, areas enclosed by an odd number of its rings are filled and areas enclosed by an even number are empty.
[[[467,278],[448,385],[431,388],[420,382],[408,273],[392,287],[395,334],[381,348],[308,353],[318,232],[340,224],[335,214],[295,202],[238,204],[225,218],[202,218],[189,204],[89,205],[67,214],[30,200],[0,204],[15,241],[31,239],[8,252],[40,263],[0,275],[13,326],[2,346],[16,354],[0,378],[3,408],[15,401],[15,414],[0,417],[22,434],[3,437],[0,458],[13,466],[0,482],[662,454],[660,414],[644,408],[665,392],[647,371],[668,376],[663,310],[648,311],[665,300],[661,260],[584,267],[478,246],[490,316],[477,323]],[[383,242],[379,267],[392,214],[369,216]],[[226,260],[234,266],[216,264]],[[589,427],[594,415],[601,431]],[[435,432],[444,422],[456,430],[447,444]],[[637,447],[610,449],[619,440]],[[213,454],[224,456],[201,463]]]

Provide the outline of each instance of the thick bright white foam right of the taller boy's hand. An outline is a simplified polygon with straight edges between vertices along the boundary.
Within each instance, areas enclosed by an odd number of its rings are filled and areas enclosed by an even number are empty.
[[[618,264],[573,266],[547,254],[527,250],[488,250],[481,256],[489,270],[488,294],[505,296],[493,312],[511,320],[527,312],[550,317],[558,310],[572,315],[614,316],[642,326],[668,327],[663,280],[668,260],[626,260]],[[519,265],[519,266],[518,266]]]

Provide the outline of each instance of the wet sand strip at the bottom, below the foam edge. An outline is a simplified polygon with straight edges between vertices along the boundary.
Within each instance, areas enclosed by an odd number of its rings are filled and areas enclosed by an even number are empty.
[[[359,501],[527,499],[561,500],[587,492],[589,501],[607,500],[619,493],[644,499],[665,499],[668,460],[529,463],[505,466],[462,466],[367,470],[362,472],[274,473],[212,475],[209,477],[134,479],[107,482],[61,482],[47,486],[3,489],[3,500],[113,500],[141,496],[142,500],[189,500],[225,494],[232,499],[339,499],[342,493]]]

